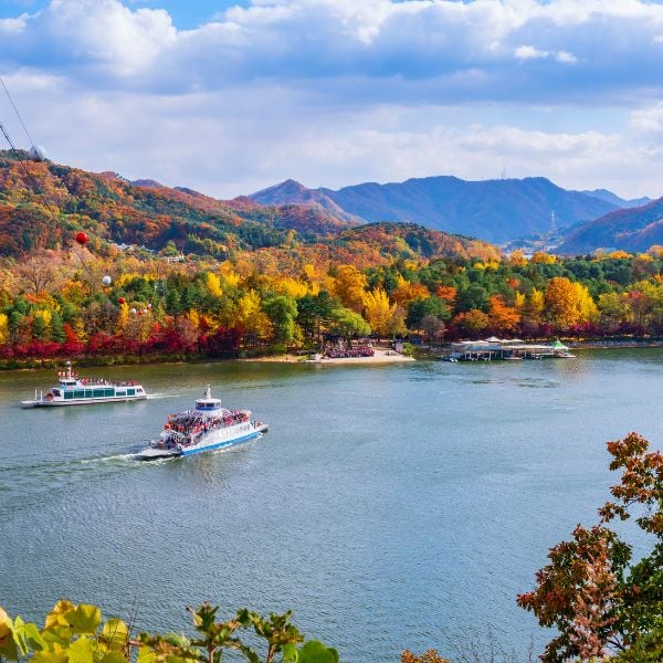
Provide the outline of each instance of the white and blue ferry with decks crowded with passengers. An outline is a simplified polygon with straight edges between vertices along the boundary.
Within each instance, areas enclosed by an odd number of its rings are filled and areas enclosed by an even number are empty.
[[[170,414],[159,439],[152,440],[137,457],[149,461],[225,449],[259,438],[266,430],[267,424],[251,420],[250,410],[222,408],[208,385],[196,408]]]

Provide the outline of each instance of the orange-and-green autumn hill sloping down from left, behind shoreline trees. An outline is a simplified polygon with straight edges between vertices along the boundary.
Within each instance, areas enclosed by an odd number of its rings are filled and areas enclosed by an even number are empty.
[[[218,259],[259,249],[287,249],[291,254],[335,251],[352,255],[355,261],[365,256],[373,262],[387,254],[497,254],[484,242],[431,234],[423,228],[383,227],[377,233],[346,233],[357,225],[348,215],[335,215],[322,207],[262,206],[249,198],[220,201],[154,180],[129,182],[112,172],[18,161],[0,151],[0,255],[4,256],[71,245],[78,231],[102,248],[110,242],[156,252],[175,246],[185,254]]]

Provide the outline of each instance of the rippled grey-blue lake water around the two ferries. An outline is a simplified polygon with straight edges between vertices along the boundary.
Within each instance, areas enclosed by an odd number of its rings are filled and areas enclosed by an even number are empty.
[[[403,366],[221,362],[85,369],[148,401],[21,410],[53,371],[0,373],[0,606],[62,597],[138,629],[185,606],[295,610],[341,660],[452,655],[491,631],[525,657],[550,634],[515,604],[547,549],[590,524],[606,442],[661,446],[663,349]],[[131,454],[210,382],[270,423],[236,450]]]

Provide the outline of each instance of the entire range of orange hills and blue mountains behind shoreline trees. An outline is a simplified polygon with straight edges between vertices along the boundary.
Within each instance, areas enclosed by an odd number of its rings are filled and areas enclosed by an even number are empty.
[[[642,200],[645,204],[631,207]],[[375,232],[362,229],[378,222]],[[366,248],[366,241],[372,243],[373,262],[378,241],[386,242],[385,255],[469,257],[495,254],[485,241],[504,243],[525,234],[550,246],[540,235],[549,235],[552,227],[557,253],[646,251],[663,244],[663,199],[623,200],[604,189],[567,191],[545,178],[431,177],[338,191],[286,180],[251,197],[217,200],[150,179],[131,182],[113,172],[21,162],[0,151],[0,255],[62,245],[74,230],[85,230],[98,240],[155,251],[172,241],[185,253],[214,257],[318,244],[324,251],[348,250],[359,260],[357,246]]]

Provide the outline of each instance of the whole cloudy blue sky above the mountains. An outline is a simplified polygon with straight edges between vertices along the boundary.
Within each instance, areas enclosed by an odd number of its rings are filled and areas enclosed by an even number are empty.
[[[217,198],[434,175],[663,196],[663,0],[0,0],[0,76],[54,161]],[[1,90],[0,122],[29,146]]]

